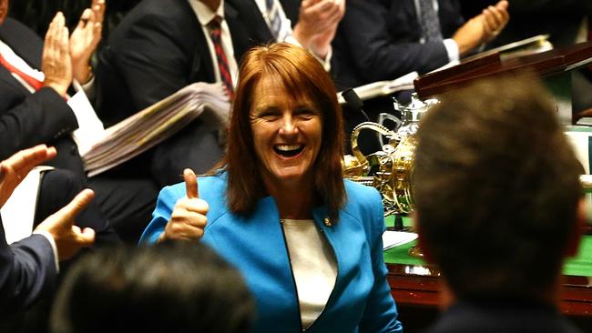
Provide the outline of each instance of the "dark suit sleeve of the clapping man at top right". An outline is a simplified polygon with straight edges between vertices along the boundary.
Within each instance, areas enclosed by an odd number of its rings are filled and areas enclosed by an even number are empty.
[[[349,53],[353,70],[364,82],[393,80],[417,71],[424,74],[448,63],[442,42],[420,44],[393,35],[396,25],[386,5],[378,0],[350,0],[339,26],[342,49]]]

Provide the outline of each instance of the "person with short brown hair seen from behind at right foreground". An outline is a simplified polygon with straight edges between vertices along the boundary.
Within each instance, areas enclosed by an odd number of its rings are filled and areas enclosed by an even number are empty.
[[[419,244],[452,303],[428,332],[579,332],[557,304],[585,223],[582,170],[534,77],[441,98],[413,174]]]

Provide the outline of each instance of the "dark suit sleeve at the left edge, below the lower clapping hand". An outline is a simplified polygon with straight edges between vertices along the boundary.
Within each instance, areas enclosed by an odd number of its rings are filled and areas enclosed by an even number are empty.
[[[0,221],[0,315],[27,308],[56,282],[54,253],[46,237],[6,244]]]

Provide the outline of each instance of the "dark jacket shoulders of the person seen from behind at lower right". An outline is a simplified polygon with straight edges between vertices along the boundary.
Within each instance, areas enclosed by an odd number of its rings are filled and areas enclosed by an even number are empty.
[[[556,308],[523,299],[459,301],[425,333],[583,333]]]

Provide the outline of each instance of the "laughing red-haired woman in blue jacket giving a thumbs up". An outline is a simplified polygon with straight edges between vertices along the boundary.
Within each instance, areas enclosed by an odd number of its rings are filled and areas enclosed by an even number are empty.
[[[240,66],[224,166],[164,187],[140,242],[200,240],[239,267],[253,332],[401,332],[383,262],[383,205],[342,178],[330,76],[299,46]]]

